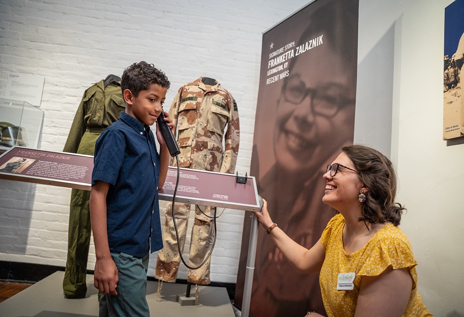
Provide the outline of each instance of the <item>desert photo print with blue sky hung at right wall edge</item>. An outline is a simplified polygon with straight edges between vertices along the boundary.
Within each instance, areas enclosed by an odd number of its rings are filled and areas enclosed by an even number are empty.
[[[443,140],[464,136],[464,0],[444,9]]]

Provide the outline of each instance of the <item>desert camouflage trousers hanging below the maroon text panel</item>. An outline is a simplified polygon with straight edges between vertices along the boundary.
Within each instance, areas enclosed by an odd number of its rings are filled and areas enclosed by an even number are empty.
[[[163,244],[164,247],[158,253],[156,261],[155,277],[165,282],[175,282],[181,258],[177,247],[177,238],[174,224],[172,222],[172,203],[166,206],[166,221],[163,229]],[[184,244],[187,235],[187,227],[189,224],[190,204],[176,203],[174,204],[174,217],[176,221],[177,232],[179,234],[180,252],[184,251]],[[214,235],[214,207],[195,206],[195,220],[192,226],[190,238],[190,254],[187,262],[190,267],[197,267],[208,256],[211,251]],[[205,213],[207,217],[203,213]],[[184,258],[184,260],[186,260]],[[187,281],[192,284],[206,285],[210,284],[210,262],[208,260],[196,270],[188,269]]]

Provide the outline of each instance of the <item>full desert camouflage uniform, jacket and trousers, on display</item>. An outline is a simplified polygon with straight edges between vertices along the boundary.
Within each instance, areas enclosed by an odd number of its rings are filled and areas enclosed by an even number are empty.
[[[177,127],[180,167],[234,172],[239,146],[237,105],[232,95],[215,79],[200,77],[181,87],[169,110],[169,117]],[[176,166],[176,162],[173,165]],[[190,207],[190,204],[174,205],[181,252],[184,249]],[[200,209],[209,217],[214,217],[214,207],[195,206],[189,258],[191,267],[197,267],[204,261],[213,242],[214,223]],[[158,254],[155,277],[175,282],[181,259],[172,222],[171,203],[166,207],[163,239],[164,248]],[[197,285],[210,284],[210,261],[211,257],[201,268],[189,270],[187,280]]]

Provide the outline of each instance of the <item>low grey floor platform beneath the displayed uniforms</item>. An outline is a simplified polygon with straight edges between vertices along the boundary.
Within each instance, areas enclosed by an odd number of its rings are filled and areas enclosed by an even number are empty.
[[[98,291],[93,287],[93,275],[87,276],[87,296],[65,299],[64,272],[55,272],[13,297],[0,303],[2,317],[93,317],[98,316]],[[199,304],[182,306],[177,296],[185,297],[187,285],[163,283],[161,301],[157,298],[158,282],[148,281],[147,301],[151,316],[163,317],[234,317],[226,288],[199,287]],[[191,287],[195,294],[195,286]],[[190,297],[189,297],[190,298]]]

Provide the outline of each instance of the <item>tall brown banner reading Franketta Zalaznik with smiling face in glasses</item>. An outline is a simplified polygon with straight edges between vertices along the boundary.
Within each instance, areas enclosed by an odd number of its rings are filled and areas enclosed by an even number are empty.
[[[315,0],[263,34],[250,174],[271,218],[311,248],[335,210],[322,203],[328,164],[353,142],[358,0]],[[245,216],[234,305],[243,304]],[[265,305],[263,305],[265,303]],[[252,317],[325,315],[318,275],[298,272],[260,228]]]

